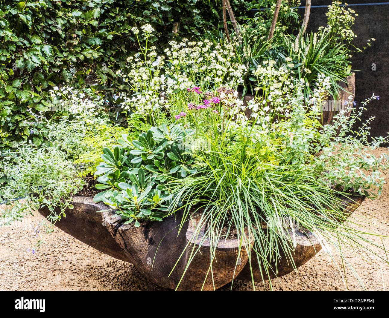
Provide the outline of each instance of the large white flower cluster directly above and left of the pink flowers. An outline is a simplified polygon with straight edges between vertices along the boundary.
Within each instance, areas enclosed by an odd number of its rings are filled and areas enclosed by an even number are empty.
[[[146,38],[150,36],[149,26],[140,29],[147,30]],[[137,30],[133,28],[134,33]],[[230,43],[215,45],[209,40],[190,42],[184,39],[180,43],[171,41],[165,50],[166,57],[158,56],[155,50],[155,47],[140,48],[135,57],[128,59],[130,73],[117,73],[131,89],[129,96],[122,96],[121,104],[130,118],[134,115],[144,119],[158,118],[172,105],[180,109],[186,99],[186,90],[198,83],[205,90],[237,87],[243,83],[247,72],[246,66],[232,63],[235,51]],[[174,111],[170,109],[170,112]]]

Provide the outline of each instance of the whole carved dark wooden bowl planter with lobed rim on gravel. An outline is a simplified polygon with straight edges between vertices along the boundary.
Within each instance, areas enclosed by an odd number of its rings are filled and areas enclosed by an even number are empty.
[[[354,212],[364,200],[364,196],[342,198],[347,213]],[[178,290],[214,290],[230,283],[233,279],[251,281],[249,256],[247,249],[240,248],[238,265],[237,255],[240,241],[221,239],[216,248],[216,259],[212,264],[212,275],[209,272],[210,244],[205,240],[192,242],[196,231],[196,218],[186,222],[179,232],[182,215],[166,217],[162,222],[144,222],[138,228],[132,224],[123,224],[123,220],[113,211],[96,213],[107,209],[103,203],[93,202],[92,197],[74,196],[74,209],[66,211],[67,217],[56,222],[56,226],[74,236],[81,242],[117,259],[131,262],[144,276],[159,286]],[[47,207],[39,212],[45,217],[50,214]],[[203,234],[200,231],[200,236]],[[296,268],[310,260],[321,250],[321,245],[312,233],[305,235],[296,232],[297,246],[293,259]],[[252,242],[246,244],[251,245]],[[189,244],[189,247],[185,247]],[[193,246],[199,251],[195,254],[186,270]],[[261,270],[254,253],[252,272],[255,281],[262,281]],[[178,262],[177,262],[178,261]],[[177,264],[176,264],[177,263]],[[273,266],[275,268],[275,266]],[[270,278],[286,275],[294,268],[286,257],[281,257],[277,264],[277,274]],[[266,279],[266,277],[265,277]]]

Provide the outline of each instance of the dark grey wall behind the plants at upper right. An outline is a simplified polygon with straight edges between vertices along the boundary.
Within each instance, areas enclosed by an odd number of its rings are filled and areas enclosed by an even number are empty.
[[[326,25],[327,5],[331,0],[312,0],[312,9],[308,28],[317,30]],[[304,1],[301,1],[303,4]],[[356,47],[362,48],[367,40],[371,41],[363,53],[355,53],[352,57],[352,69],[356,70],[356,96],[358,105],[372,93],[380,96],[378,101],[367,105],[362,122],[375,116],[371,123],[371,137],[387,136],[389,132],[389,2],[366,0],[347,1],[349,8],[355,10],[358,16],[353,28],[357,38]],[[324,6],[324,7],[316,7]],[[304,9],[300,8],[301,15]],[[375,64],[375,71],[372,70]]]

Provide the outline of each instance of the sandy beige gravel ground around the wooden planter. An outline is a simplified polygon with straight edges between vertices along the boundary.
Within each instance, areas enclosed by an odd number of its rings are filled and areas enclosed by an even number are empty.
[[[377,151],[378,153],[378,151]],[[385,174],[389,182],[389,174]],[[389,236],[389,184],[378,200],[365,200],[353,217],[369,217],[368,231]],[[77,241],[60,229],[35,234],[42,216],[35,213],[22,223],[0,228],[0,290],[165,290],[149,282],[132,264],[119,261]],[[359,221],[357,221],[359,222]],[[360,222],[359,222],[360,223]],[[33,254],[31,249],[40,236],[45,241]],[[374,238],[378,244],[380,238]],[[389,247],[389,240],[383,239]],[[388,248],[387,248],[388,249]],[[385,252],[374,248],[385,257]],[[389,266],[372,253],[346,251],[367,290],[388,290]],[[340,257],[335,255],[341,264]],[[346,269],[349,290],[362,290]],[[321,251],[298,271],[272,280],[273,290],[346,290],[336,265]],[[256,290],[269,290],[256,283]],[[230,290],[231,286],[220,290]],[[232,290],[252,290],[249,282],[236,281]]]

